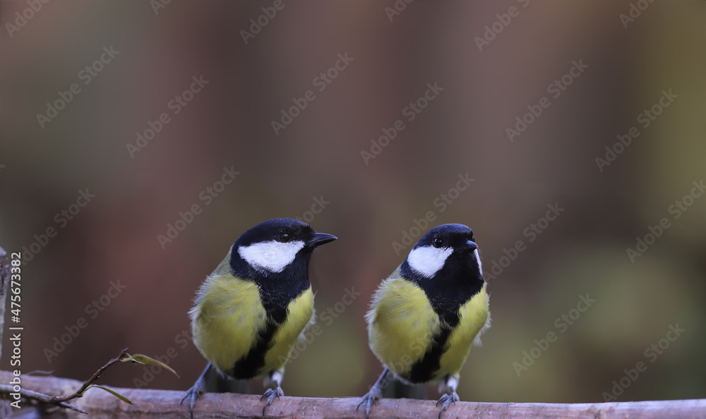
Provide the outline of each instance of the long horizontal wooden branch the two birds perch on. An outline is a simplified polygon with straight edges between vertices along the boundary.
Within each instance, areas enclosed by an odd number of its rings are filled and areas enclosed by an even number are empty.
[[[0,382],[9,382],[11,372],[0,371]],[[76,391],[82,383],[56,377],[22,376],[25,389],[47,394],[67,394]],[[188,406],[181,405],[184,391],[115,389],[130,399],[128,405],[105,391],[89,390],[76,400],[76,406],[88,411],[93,418],[188,418]],[[268,408],[268,417],[291,418],[357,418],[365,417],[355,408],[359,397],[321,399],[313,397],[282,397]],[[24,409],[24,407],[23,407]],[[194,408],[195,418],[262,418],[259,395],[214,394],[201,396]],[[371,418],[436,418],[438,408],[434,400],[382,399],[375,403]],[[443,418],[647,418],[669,419],[704,417],[706,399],[633,401],[616,403],[474,403],[457,402],[451,405]],[[56,412],[56,417],[86,418],[73,411]]]

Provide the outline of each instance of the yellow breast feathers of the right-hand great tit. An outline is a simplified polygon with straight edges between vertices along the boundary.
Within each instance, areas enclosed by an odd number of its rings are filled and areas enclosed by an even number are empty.
[[[458,375],[465,363],[475,336],[488,317],[486,285],[459,308],[459,323],[451,332],[432,379]],[[373,297],[367,315],[370,347],[379,360],[395,374],[409,375],[412,365],[429,350],[433,334],[441,327],[424,291],[399,277],[386,279]]]

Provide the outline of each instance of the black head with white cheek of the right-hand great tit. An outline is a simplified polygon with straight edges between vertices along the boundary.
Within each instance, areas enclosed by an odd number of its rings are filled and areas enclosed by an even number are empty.
[[[472,229],[463,224],[443,224],[419,239],[402,267],[419,279],[482,281],[477,249]]]

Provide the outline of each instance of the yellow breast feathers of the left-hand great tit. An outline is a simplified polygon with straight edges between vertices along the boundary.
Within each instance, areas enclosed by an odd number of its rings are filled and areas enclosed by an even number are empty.
[[[258,285],[230,274],[227,260],[201,286],[191,309],[191,327],[196,347],[216,368],[230,371],[260,339],[267,313]],[[277,327],[265,353],[265,365],[257,375],[280,370],[313,315],[311,286],[287,305],[287,318]]]

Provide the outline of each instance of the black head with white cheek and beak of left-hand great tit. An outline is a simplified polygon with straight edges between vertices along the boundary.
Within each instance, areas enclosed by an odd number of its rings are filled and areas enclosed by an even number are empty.
[[[242,279],[252,279],[258,274],[276,275],[287,268],[297,268],[297,274],[304,269],[306,279],[313,249],[335,239],[330,234],[316,233],[309,224],[296,219],[270,219],[238,238],[233,244],[230,265]]]

